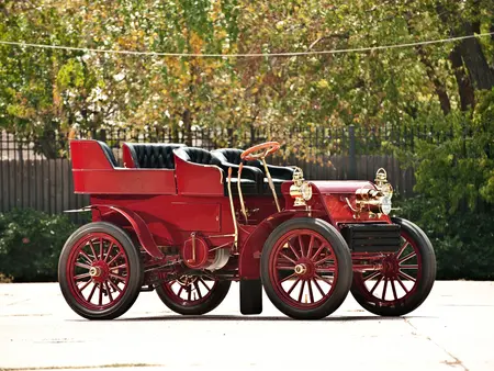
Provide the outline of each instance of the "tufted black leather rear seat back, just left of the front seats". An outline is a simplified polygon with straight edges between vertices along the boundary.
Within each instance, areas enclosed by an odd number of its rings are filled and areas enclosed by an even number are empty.
[[[136,168],[175,169],[173,149],[184,147],[176,143],[125,143]]]

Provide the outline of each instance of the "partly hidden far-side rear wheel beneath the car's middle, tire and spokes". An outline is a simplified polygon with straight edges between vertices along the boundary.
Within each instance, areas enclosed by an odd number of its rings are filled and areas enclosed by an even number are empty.
[[[156,291],[171,311],[183,315],[201,315],[216,308],[228,293],[231,281],[182,276],[162,283]]]

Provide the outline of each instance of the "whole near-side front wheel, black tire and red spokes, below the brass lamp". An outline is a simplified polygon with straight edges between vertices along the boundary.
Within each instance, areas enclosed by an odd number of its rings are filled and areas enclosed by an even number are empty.
[[[319,319],[345,301],[352,278],[351,255],[329,223],[297,217],[266,240],[261,280],[274,306],[296,319]]]

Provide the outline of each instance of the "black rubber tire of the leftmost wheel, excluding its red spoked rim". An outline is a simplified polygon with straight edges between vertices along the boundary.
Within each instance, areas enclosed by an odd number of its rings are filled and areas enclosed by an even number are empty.
[[[108,259],[113,259],[111,257],[112,252],[112,246],[120,248],[121,251],[123,251],[123,255],[120,255],[114,259],[114,263],[117,263],[120,259],[126,259],[126,279],[127,281],[124,282],[124,288],[122,289],[122,293],[119,294],[117,299],[112,299],[110,303],[108,303],[106,307],[102,307],[101,310],[94,308],[90,302],[91,299],[88,295],[88,299],[85,299],[85,295],[78,290],[77,284],[74,282],[71,278],[68,277],[67,272],[69,269],[72,269],[69,267],[70,260],[72,260],[72,254],[77,251],[78,249],[78,243],[83,241],[85,238],[88,238],[88,236],[92,236],[94,234],[99,235],[108,235],[109,238],[112,237],[114,240],[116,240],[120,246],[117,245],[109,245],[108,250]],[[104,244],[103,244],[104,245]],[[86,245],[85,245],[86,246]],[[89,245],[87,245],[89,246]],[[97,252],[98,255],[98,252]],[[77,261],[74,260],[74,262]],[[96,260],[94,260],[96,261]],[[112,269],[108,269],[109,272],[113,273],[115,271],[115,268],[112,267]],[[74,268],[76,269],[76,268]],[[120,270],[117,270],[120,272]],[[105,293],[106,296],[110,297],[108,294],[109,292],[112,292],[112,289],[116,289],[115,286],[119,286],[122,282],[114,281],[110,282],[111,278],[109,277],[105,283],[108,284],[106,288],[110,288],[110,290],[106,290],[103,285],[104,283],[101,283],[98,286],[99,291],[102,291]],[[131,237],[120,227],[106,223],[106,222],[94,222],[89,223],[80,228],[78,228],[66,241],[60,258],[58,261],[58,282],[61,290],[61,293],[67,302],[67,304],[76,312],[78,315],[80,315],[83,318],[88,319],[113,319],[116,317],[120,317],[125,312],[127,312],[131,306],[134,304],[134,302],[137,300],[137,296],[141,292],[141,288],[144,280],[144,271],[143,271],[143,265],[141,260],[139,252],[137,248],[132,243]],[[94,283],[94,279],[90,278],[88,281],[92,281],[93,286],[97,286],[99,283]],[[88,282],[87,281],[87,282]],[[116,283],[114,283],[116,282]],[[88,283],[90,284],[90,283]],[[96,289],[94,289],[96,290]],[[113,294],[116,294],[117,291],[114,290]],[[98,292],[99,294],[99,292]],[[103,293],[101,294],[101,296]],[[101,297],[100,296],[100,297]],[[113,295],[112,295],[113,296]],[[112,303],[114,302],[114,303]]]

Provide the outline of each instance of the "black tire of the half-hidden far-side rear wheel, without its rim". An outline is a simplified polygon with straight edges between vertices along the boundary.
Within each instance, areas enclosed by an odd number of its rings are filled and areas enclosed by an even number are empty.
[[[193,279],[200,280],[197,277]],[[198,282],[199,285],[199,281],[194,282]],[[190,289],[192,289],[192,285],[193,283],[187,285],[187,288],[190,286]],[[202,315],[215,310],[223,302],[228,294],[231,285],[232,281],[217,280],[214,282],[212,290],[210,290],[209,294],[203,297],[203,300],[191,300],[189,302],[188,300],[181,300],[180,296],[173,293],[172,289],[167,289],[167,283],[160,284],[156,288],[156,293],[161,302],[175,313],[183,315]]]

